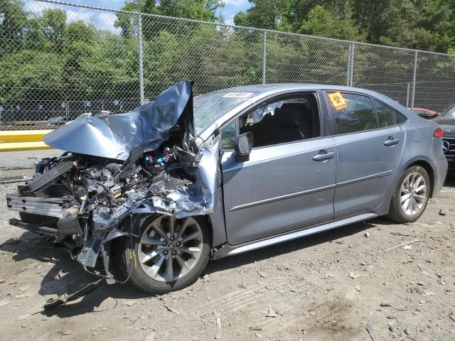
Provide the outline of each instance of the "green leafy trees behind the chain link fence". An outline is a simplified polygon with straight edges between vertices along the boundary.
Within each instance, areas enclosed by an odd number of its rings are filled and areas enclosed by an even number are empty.
[[[287,32],[267,33],[267,82],[346,85],[348,42],[288,33],[455,50],[454,13],[447,0],[250,1],[252,9],[237,13],[235,23]],[[264,34],[217,25],[223,21],[216,14],[219,6],[218,0],[127,1],[127,11],[195,20],[142,16],[146,97],[154,98],[185,78],[195,81],[196,94],[262,82]],[[23,115],[50,102],[62,111],[63,102],[80,101],[80,112],[87,109],[85,101],[99,99],[138,104],[137,14],[117,13],[118,31],[103,31],[68,16],[62,9],[28,13],[20,0],[0,0],[0,104],[28,108]],[[405,102],[413,58],[412,51],[358,45],[354,84],[382,91],[376,84],[400,83],[399,91],[382,92]],[[431,67],[419,68],[418,80],[455,72],[454,60],[446,56],[422,55],[419,63]]]

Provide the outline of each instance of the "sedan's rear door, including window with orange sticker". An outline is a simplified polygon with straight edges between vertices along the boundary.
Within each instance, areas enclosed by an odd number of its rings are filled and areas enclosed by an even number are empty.
[[[336,129],[337,219],[382,203],[400,164],[405,132],[397,124],[395,110],[376,99],[353,92],[326,96]]]

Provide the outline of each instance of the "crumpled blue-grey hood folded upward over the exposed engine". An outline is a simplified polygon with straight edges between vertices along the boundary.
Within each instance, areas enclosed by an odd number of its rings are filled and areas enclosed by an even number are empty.
[[[183,80],[132,112],[78,119],[43,140],[64,151],[125,161],[137,146],[144,151],[158,148],[176,124],[193,132],[192,87],[193,82]]]

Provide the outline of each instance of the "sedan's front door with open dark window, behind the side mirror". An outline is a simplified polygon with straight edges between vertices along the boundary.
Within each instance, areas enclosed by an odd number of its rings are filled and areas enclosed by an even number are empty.
[[[231,245],[333,219],[336,146],[332,137],[321,137],[316,92],[277,99],[264,107],[267,114],[254,109],[222,130],[225,221]],[[253,132],[250,161],[235,161],[235,152],[229,150],[235,124],[237,134]]]

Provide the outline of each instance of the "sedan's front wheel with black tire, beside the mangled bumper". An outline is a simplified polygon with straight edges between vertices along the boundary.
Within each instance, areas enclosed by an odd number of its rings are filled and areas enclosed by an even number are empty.
[[[130,283],[148,293],[168,293],[197,281],[210,258],[210,229],[202,217],[153,215],[140,231],[123,253]]]

